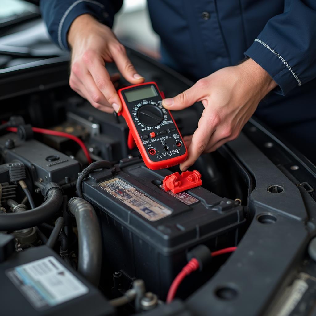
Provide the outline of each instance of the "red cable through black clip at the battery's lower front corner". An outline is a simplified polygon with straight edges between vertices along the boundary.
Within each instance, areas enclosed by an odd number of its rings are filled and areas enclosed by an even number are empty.
[[[224,253],[228,252],[234,252],[237,249],[237,247],[228,247],[224,248],[221,250],[217,250],[214,252],[211,252],[212,257],[219,256]],[[196,271],[199,268],[199,263],[196,258],[192,258],[184,267],[183,269],[179,272],[179,274],[175,277],[173,282],[171,283],[171,286],[168,291],[167,295],[167,303],[170,303],[173,299],[174,296],[176,295],[176,292],[179,288],[179,285],[183,281],[183,279],[191,274],[193,271]]]

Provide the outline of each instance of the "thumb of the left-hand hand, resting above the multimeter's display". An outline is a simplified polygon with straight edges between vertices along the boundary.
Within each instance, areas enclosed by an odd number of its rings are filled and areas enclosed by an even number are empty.
[[[113,46],[110,50],[118,70],[128,82],[137,84],[145,81],[145,78],[137,73],[135,67],[127,57],[126,50],[123,45]]]

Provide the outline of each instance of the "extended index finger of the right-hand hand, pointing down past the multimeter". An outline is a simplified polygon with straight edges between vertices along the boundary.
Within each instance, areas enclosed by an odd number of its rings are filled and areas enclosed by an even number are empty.
[[[211,135],[215,131],[216,125],[210,124],[210,120],[205,114],[203,115],[203,113],[199,120],[198,128],[194,132],[191,144],[188,148],[188,157],[180,164],[181,171],[187,170],[195,161],[197,161],[197,158],[204,152]]]

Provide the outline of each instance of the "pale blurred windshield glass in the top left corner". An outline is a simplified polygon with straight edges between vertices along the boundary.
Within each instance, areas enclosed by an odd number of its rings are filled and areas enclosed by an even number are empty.
[[[12,21],[24,15],[33,15],[38,12],[35,4],[23,0],[0,1],[0,23]]]

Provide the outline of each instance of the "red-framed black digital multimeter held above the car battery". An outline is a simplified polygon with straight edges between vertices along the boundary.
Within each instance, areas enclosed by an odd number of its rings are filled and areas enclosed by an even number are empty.
[[[119,89],[122,114],[149,169],[157,170],[185,161],[187,149],[155,82]]]

